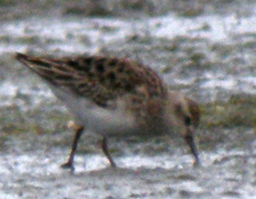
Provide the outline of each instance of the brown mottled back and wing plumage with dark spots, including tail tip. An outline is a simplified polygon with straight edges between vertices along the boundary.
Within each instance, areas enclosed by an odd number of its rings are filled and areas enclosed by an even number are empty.
[[[167,88],[152,68],[132,60],[87,56],[47,59],[17,53],[16,59],[46,82],[86,96],[105,106],[119,96],[141,92],[140,96],[166,97]],[[144,88],[138,89],[138,88]],[[143,92],[143,93],[142,93]]]

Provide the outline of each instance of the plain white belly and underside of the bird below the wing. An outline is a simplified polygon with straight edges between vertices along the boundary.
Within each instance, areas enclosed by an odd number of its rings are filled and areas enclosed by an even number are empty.
[[[51,86],[53,93],[75,115],[76,123],[99,134],[133,133],[137,130],[135,117],[127,111],[124,101],[117,101],[113,109],[102,108],[86,98],[77,98],[71,93]]]

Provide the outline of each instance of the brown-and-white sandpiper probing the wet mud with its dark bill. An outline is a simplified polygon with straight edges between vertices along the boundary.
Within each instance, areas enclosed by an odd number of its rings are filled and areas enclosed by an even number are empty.
[[[200,122],[196,101],[169,90],[160,75],[143,63],[103,55],[15,58],[39,75],[74,115],[75,137],[63,168],[75,170],[75,152],[83,131],[101,136],[101,149],[117,167],[108,148],[112,135],[174,135],[180,131],[199,165],[195,134]]]

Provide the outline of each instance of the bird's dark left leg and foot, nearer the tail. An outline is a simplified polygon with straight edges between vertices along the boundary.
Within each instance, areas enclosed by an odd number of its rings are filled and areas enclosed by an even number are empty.
[[[75,151],[77,148],[78,141],[82,136],[83,129],[84,127],[81,125],[75,127],[75,138],[73,140],[71,151],[69,153],[68,161],[65,164],[61,165],[62,168],[70,168],[72,171],[74,171],[75,168],[73,166],[73,161],[74,161]]]

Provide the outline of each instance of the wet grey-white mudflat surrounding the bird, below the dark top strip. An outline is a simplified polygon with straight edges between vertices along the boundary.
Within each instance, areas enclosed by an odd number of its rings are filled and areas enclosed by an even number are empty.
[[[256,93],[252,5],[245,15],[235,9],[195,18],[172,13],[133,19],[35,16],[2,21],[0,197],[256,197],[255,117],[246,115],[254,113]],[[75,157],[75,173],[61,169],[72,141],[66,125],[72,116],[36,75],[12,58],[14,52],[101,53],[152,66],[170,88],[201,103],[204,115],[196,138],[202,166],[193,167],[180,137],[117,137],[110,138],[118,165],[111,169],[99,138],[86,133]],[[238,103],[229,106],[234,96]],[[248,110],[232,110],[239,107]],[[230,120],[222,117],[226,112],[231,112]]]

